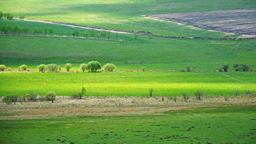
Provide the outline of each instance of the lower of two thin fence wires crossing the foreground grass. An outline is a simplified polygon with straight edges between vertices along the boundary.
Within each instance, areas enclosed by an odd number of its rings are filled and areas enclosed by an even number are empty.
[[[140,121],[200,121],[200,120],[255,120],[255,118],[226,118],[226,119],[185,119],[185,120],[90,120],[90,121],[37,121],[37,122],[0,122],[0,123],[42,123],[42,122],[140,122]]]

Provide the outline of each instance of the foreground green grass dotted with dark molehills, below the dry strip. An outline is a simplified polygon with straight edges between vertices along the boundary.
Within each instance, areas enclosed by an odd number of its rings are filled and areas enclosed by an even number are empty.
[[[251,106],[182,110],[169,112],[164,117],[151,118],[135,116],[134,118],[1,120],[0,122],[33,123],[0,123],[0,142],[254,144],[256,142],[255,110],[255,106]],[[205,115],[208,112],[211,113],[210,116]],[[180,113],[186,113],[182,116],[194,114],[195,117],[171,117],[180,116]]]

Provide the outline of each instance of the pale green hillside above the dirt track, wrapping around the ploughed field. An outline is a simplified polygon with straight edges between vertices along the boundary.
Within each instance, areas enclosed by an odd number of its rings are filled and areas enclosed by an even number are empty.
[[[28,18],[118,30],[143,30],[160,35],[214,38],[224,33],[195,30],[186,25],[161,22],[142,15],[256,7],[255,0],[4,0],[0,4],[2,11],[17,15],[24,13]]]

